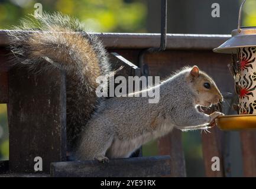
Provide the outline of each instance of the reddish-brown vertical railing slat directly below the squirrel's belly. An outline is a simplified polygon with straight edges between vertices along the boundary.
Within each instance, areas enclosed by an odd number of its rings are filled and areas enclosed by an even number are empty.
[[[171,173],[169,177],[186,177],[186,166],[182,147],[182,132],[173,129],[171,133],[158,139],[159,155],[170,155]]]

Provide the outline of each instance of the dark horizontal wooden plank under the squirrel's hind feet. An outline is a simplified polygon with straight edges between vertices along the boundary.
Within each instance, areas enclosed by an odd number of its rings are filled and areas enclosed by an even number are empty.
[[[51,177],[159,177],[171,172],[170,156],[51,163]]]

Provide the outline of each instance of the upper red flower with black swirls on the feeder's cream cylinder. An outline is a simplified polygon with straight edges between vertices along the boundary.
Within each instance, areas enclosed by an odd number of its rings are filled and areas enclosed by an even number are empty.
[[[238,69],[239,70],[241,70],[241,71],[247,70],[248,71],[249,67],[251,67],[251,69],[252,69],[251,63],[253,63],[255,61],[255,57],[252,58],[252,54],[254,52],[255,52],[254,47],[249,47],[248,51],[245,48],[242,48],[242,51],[241,51],[239,48],[239,50],[238,50],[238,60],[239,60]]]

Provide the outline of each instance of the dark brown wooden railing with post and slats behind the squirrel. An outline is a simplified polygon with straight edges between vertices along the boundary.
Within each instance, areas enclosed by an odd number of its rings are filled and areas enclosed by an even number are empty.
[[[102,39],[109,52],[118,53],[137,66],[141,50],[149,47],[158,47],[160,44],[160,34],[109,33],[96,35]],[[234,93],[234,81],[229,75],[227,67],[231,57],[226,54],[212,52],[213,48],[218,47],[229,37],[229,35],[168,34],[166,51],[146,53],[144,64],[147,64],[151,76],[160,76],[162,79],[183,66],[197,65],[213,77],[221,92]],[[34,155],[40,154],[40,151],[44,150],[48,152],[44,153],[45,155],[42,157],[44,159],[44,171],[49,172],[50,162],[66,160],[66,135],[63,133],[66,128],[65,76],[59,70],[56,70],[53,79],[51,73],[34,76],[26,70],[12,69],[7,62],[8,56],[10,56],[6,48],[7,45],[6,32],[4,30],[0,31],[0,103],[8,103],[9,120],[9,161],[0,163],[0,171],[4,170],[3,167],[5,167],[6,170],[8,169],[12,172],[33,172],[31,169],[34,167]],[[47,91],[51,93],[50,96],[46,95]],[[46,110],[44,106],[47,104],[45,102],[49,99],[51,102],[56,103],[51,104],[50,108],[47,107],[50,112],[44,112]],[[46,116],[38,118],[38,115],[42,113]],[[57,113],[57,116],[54,116],[54,113]],[[52,124],[52,120],[57,120],[57,122]],[[51,132],[54,132],[54,135],[51,135]],[[224,134],[218,128],[211,129],[207,135],[205,133],[202,134],[202,151],[206,177],[227,176],[225,155],[223,154],[225,153],[225,148],[223,147]],[[242,131],[241,141],[244,175],[256,176],[255,132]],[[52,149],[46,149],[46,146],[51,146]],[[160,157],[157,161],[155,159],[142,159],[147,162],[147,165],[161,164],[170,167],[169,170],[161,170],[164,174],[158,172],[159,174],[157,175],[166,175],[169,171],[168,175],[172,177],[186,176],[180,131],[174,129],[173,132],[159,139],[158,152],[159,155],[170,155],[170,157]],[[212,157],[221,159],[221,171],[212,171]],[[114,170],[118,169],[118,166],[122,165],[122,161],[124,167],[128,163],[135,162],[116,160],[112,168]],[[58,169],[61,170],[59,175],[61,175],[61,172],[62,175],[72,175],[63,170],[63,165],[67,166],[66,164],[52,164],[52,166],[56,165],[56,167],[51,168],[52,175],[58,176],[54,172],[54,170]],[[9,168],[7,168],[8,165]],[[98,164],[93,162],[93,165],[97,166]],[[72,163],[72,166],[77,168],[75,163]],[[86,167],[86,163],[83,164],[83,167],[85,170],[86,168],[87,170],[89,169]],[[152,172],[150,174],[154,175]],[[115,174],[110,175],[115,176]]]

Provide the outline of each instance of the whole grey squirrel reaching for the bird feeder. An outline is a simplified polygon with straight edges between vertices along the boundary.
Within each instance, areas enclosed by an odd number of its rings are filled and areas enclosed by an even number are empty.
[[[29,69],[52,67],[67,74],[67,142],[77,160],[127,158],[152,139],[181,130],[206,129],[219,115],[196,105],[223,100],[215,82],[197,66],[185,67],[160,84],[160,100],[148,97],[96,96],[96,78],[111,70],[101,41],[83,32],[77,19],[59,13],[29,19],[9,32],[14,60]],[[40,30],[22,32],[39,28]]]

